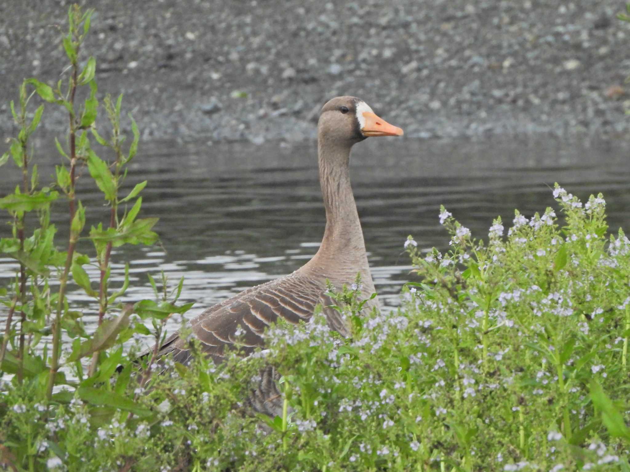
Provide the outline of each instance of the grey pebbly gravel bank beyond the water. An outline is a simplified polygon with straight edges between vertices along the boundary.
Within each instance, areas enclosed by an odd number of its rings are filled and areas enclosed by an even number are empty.
[[[630,123],[619,1],[89,4],[99,89],[125,93],[149,138],[301,141],[339,94],[364,98],[408,137],[620,137]],[[2,137],[23,77],[62,73],[66,11],[65,1],[0,3]],[[52,108],[44,121],[59,130],[66,115]]]

